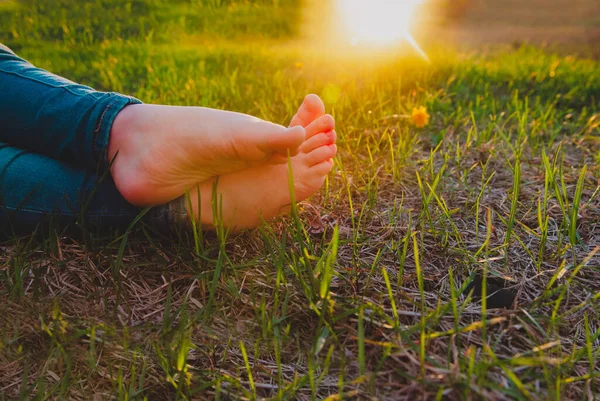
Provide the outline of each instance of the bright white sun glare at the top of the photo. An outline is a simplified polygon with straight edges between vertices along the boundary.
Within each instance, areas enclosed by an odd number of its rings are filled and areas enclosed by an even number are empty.
[[[421,0],[336,0],[343,36],[352,45],[387,47],[408,41],[427,58],[410,31]]]

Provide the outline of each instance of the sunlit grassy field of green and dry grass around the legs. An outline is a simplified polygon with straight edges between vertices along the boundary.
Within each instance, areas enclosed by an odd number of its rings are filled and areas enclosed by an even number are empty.
[[[316,93],[339,137],[321,192],[252,232],[2,240],[0,400],[600,398],[593,42],[361,57],[313,43],[318,14],[0,1],[0,42],[54,73],[282,124]]]

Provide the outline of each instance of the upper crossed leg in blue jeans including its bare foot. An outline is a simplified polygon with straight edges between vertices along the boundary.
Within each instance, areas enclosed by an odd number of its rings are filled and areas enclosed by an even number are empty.
[[[0,141],[92,170],[118,155],[113,180],[138,206],[166,203],[218,175],[285,163],[305,139],[302,127],[245,114],[133,104],[140,102],[68,81],[3,49],[0,93]]]

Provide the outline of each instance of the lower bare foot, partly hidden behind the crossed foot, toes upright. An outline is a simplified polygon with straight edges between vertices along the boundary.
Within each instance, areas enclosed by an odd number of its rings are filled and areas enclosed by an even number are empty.
[[[300,153],[292,157],[296,201],[302,201],[321,188],[333,166],[337,148],[335,122],[323,115],[321,99],[309,95],[292,124],[305,125],[307,140]],[[211,204],[215,178],[200,184],[201,218],[205,227],[213,227]],[[291,204],[287,165],[265,165],[219,177],[217,194],[222,199],[223,224],[233,230],[256,227],[262,220],[284,212]],[[191,194],[194,216],[198,216],[197,191]]]

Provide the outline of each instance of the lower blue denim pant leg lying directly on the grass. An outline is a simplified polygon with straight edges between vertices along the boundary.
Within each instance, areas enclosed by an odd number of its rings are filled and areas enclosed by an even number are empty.
[[[52,218],[59,227],[127,228],[142,212],[129,204],[110,175],[0,143],[0,233],[27,233]],[[144,219],[173,227],[172,206],[152,208]]]

